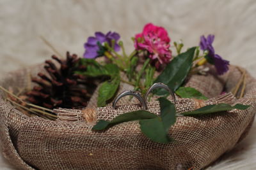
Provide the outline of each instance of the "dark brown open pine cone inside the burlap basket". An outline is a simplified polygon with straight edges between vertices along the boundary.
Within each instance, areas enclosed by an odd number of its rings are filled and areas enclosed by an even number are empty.
[[[40,78],[32,78],[38,84],[33,90],[27,93],[28,101],[45,108],[76,108],[87,106],[87,102],[97,87],[95,78],[86,78],[77,75],[74,71],[86,69],[77,67],[79,57],[76,54],[70,55],[67,52],[67,59],[61,60],[56,55],[52,55],[60,67],[57,67],[52,60],[45,60],[44,73],[38,73]]]

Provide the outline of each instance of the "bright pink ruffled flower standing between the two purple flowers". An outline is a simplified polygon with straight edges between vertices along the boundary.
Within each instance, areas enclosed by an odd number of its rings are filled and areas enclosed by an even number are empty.
[[[143,32],[136,34],[134,46],[136,50],[147,50],[148,57],[153,60],[157,68],[161,64],[170,62],[172,58],[167,31],[151,23],[144,26]]]

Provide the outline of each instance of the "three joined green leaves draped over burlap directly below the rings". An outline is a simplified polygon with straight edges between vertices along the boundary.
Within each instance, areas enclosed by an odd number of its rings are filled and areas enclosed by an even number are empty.
[[[176,122],[175,106],[163,97],[159,98],[159,103],[161,109],[160,117],[145,110],[132,111],[119,115],[110,122],[100,120],[92,129],[104,130],[123,122],[140,120],[140,129],[145,136],[157,143],[169,143],[172,138],[168,136],[168,132],[170,126]]]

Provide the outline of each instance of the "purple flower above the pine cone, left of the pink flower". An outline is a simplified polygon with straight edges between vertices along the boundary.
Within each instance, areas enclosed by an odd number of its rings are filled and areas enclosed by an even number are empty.
[[[111,46],[111,41],[113,39],[115,39],[115,45]],[[106,35],[102,32],[95,32],[95,37],[90,36],[87,39],[87,42],[84,44],[84,58],[94,59],[96,57],[99,57],[100,46],[98,45],[98,43],[102,45],[102,43],[107,42],[109,46],[111,46],[116,52],[118,52],[120,50],[120,46],[117,44],[118,39],[120,39],[120,35],[116,32],[109,31]]]

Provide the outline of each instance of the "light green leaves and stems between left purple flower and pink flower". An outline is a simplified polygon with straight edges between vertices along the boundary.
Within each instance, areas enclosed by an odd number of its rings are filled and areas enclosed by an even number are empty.
[[[115,44],[115,41],[113,40],[112,43]],[[106,106],[108,101],[115,96],[120,81],[129,83],[134,86],[134,90],[138,90],[141,94],[144,94],[148,87],[152,85],[156,70],[150,66],[150,59],[145,60],[141,69],[138,70],[138,52],[134,51],[128,57],[122,41],[119,41],[118,45],[121,46],[124,56],[116,53],[114,48],[109,46],[108,43],[104,43],[104,45],[98,43],[98,45],[100,49],[98,53],[104,54],[111,60],[111,64],[100,64],[95,59],[81,59],[78,65],[84,66],[86,69],[84,71],[76,71],[76,74],[92,77],[104,76],[108,78],[100,86],[97,106]],[[120,77],[120,71],[126,74],[129,81]]]

